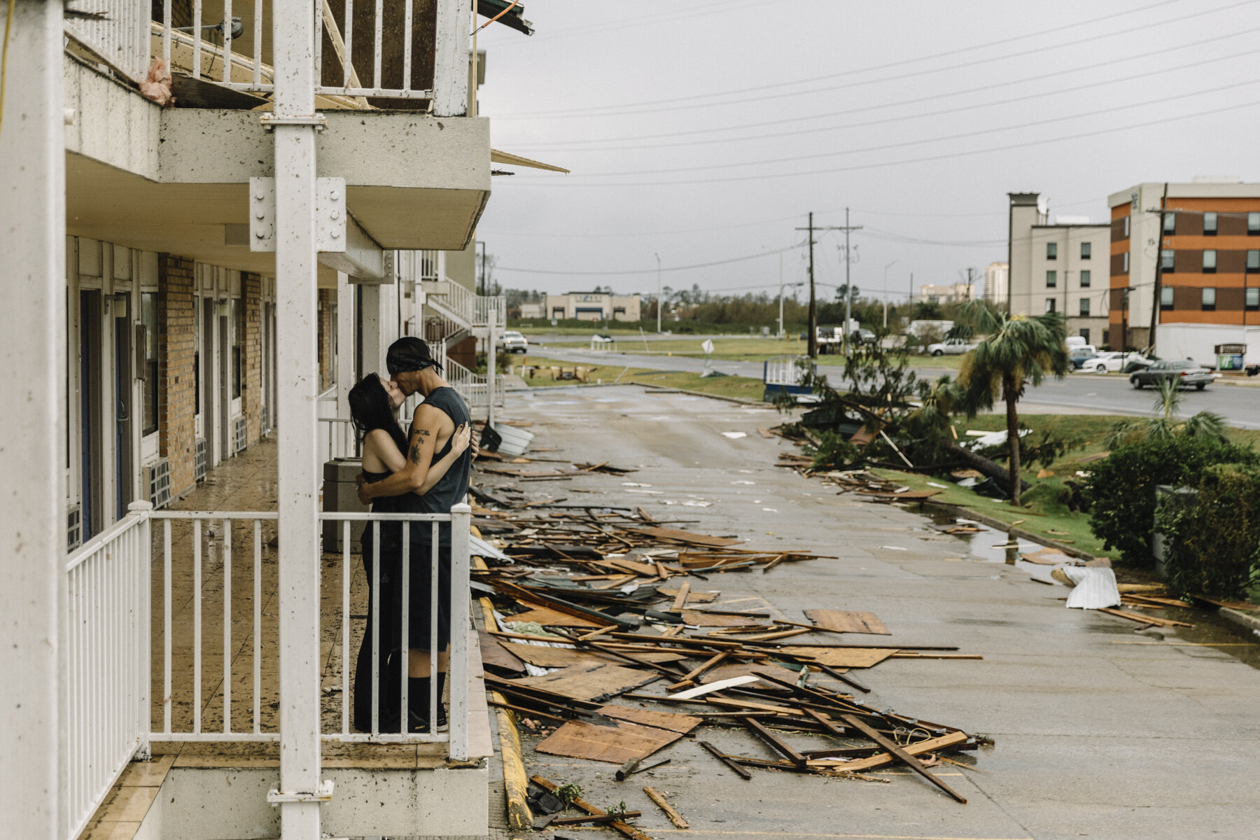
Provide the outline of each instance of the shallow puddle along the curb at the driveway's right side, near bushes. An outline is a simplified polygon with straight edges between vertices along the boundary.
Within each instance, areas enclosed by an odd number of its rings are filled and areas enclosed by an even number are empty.
[[[1062,597],[1066,597],[1067,587],[1050,577],[1050,570],[1053,567],[1029,563],[1019,558],[1021,552],[1036,552],[1042,548],[1040,543],[1012,538],[1005,531],[989,528],[988,525],[983,525],[973,519],[966,519],[965,516],[951,516],[944,513],[935,513],[929,518],[934,525],[966,524],[978,528],[979,530],[975,534],[944,534],[929,528],[915,530],[920,531],[922,535],[939,534],[940,536],[956,539],[965,547],[960,548],[959,557],[1014,567],[1016,569],[1027,572],[1029,576],[1040,581],[1053,583],[1058,592],[1062,593]],[[1009,543],[1018,543],[1018,545],[1013,548],[1004,548]],[[1183,646],[1186,652],[1191,652],[1196,649],[1215,650],[1232,656],[1251,667],[1260,669],[1260,636],[1251,632],[1246,627],[1217,615],[1216,612],[1206,610],[1188,610],[1184,607],[1167,607],[1164,610],[1153,610],[1150,611],[1150,615],[1158,618],[1183,621],[1186,623],[1194,625],[1194,627],[1152,627],[1149,630],[1139,631],[1139,625],[1137,623],[1131,627],[1125,627],[1124,625],[1118,623],[1115,627],[1115,635],[1124,639],[1116,639],[1113,644],[1115,644],[1116,647],[1120,647],[1121,645],[1145,644]],[[1119,622],[1123,620],[1118,618],[1116,621]],[[1005,622],[976,621],[976,623]]]

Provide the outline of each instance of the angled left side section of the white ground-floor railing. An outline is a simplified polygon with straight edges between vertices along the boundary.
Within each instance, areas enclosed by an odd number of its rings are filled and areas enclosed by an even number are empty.
[[[66,562],[67,791],[74,837],[149,744],[149,502]]]

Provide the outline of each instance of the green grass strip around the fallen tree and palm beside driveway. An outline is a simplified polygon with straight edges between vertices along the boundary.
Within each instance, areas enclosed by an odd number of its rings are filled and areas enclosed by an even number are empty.
[[[1090,554],[1110,557],[1113,560],[1119,559],[1118,552],[1104,550],[1102,543],[1095,539],[1090,531],[1089,514],[1072,513],[1060,499],[1065,481],[1080,481],[1081,476],[1076,475],[1077,471],[1089,471],[1090,465],[1085,462],[1085,458],[1104,451],[1102,440],[1111,427],[1118,422],[1128,422],[1133,418],[1116,414],[1021,414],[1019,419],[1033,429],[1034,436],[1041,431],[1050,431],[1055,434],[1084,441],[1081,448],[1065,453],[1050,465],[1048,468],[1055,474],[1052,476],[1038,479],[1040,465],[1022,470],[1024,480],[1033,485],[1023,494],[1023,508],[1012,508],[1008,501],[982,496],[948,480],[897,470],[876,470],[874,472],[906,484],[914,490],[940,490],[940,494],[932,497],[936,501],[963,505],[1012,525],[1018,523],[1019,528],[1045,535],[1047,539],[1062,540],[1072,548]],[[970,421],[960,421],[955,428],[959,438],[969,437],[965,433],[966,429],[993,432],[1005,428],[1005,416],[982,414]],[[1230,429],[1230,440],[1234,443],[1255,446],[1260,443],[1260,429]],[[934,485],[945,485],[945,487]]]

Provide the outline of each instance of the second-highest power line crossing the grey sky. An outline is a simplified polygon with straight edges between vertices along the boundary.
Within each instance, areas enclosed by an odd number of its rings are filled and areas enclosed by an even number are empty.
[[[1148,58],[1150,55],[1155,55],[1155,54],[1159,54],[1159,53],[1171,52],[1171,50],[1174,50],[1174,49],[1186,49],[1186,48],[1189,48],[1189,47],[1200,47],[1202,44],[1207,44],[1207,43],[1211,43],[1211,42],[1223,40],[1226,38],[1239,38],[1239,37],[1250,35],[1250,34],[1254,34],[1254,33],[1257,33],[1257,31],[1260,31],[1260,26],[1256,26],[1256,28],[1252,28],[1252,29],[1246,29],[1246,30],[1237,31],[1237,33],[1230,33],[1227,35],[1218,35],[1216,38],[1208,38],[1208,39],[1205,39],[1205,40],[1201,40],[1201,42],[1196,42],[1193,44],[1184,44],[1182,47],[1173,47],[1173,48],[1169,48],[1167,50],[1154,50],[1152,53],[1144,53],[1142,55],[1135,55],[1135,57],[1130,57],[1130,58],[1119,58],[1119,59],[1113,59],[1113,60],[1108,60],[1108,62],[1099,62],[1096,64],[1087,64],[1087,65],[1081,65],[1081,67],[1071,67],[1071,68],[1067,68],[1067,69],[1063,69],[1063,71],[1056,71],[1053,73],[1043,73],[1042,76],[1033,76],[1033,77],[1028,77],[1028,78],[1023,78],[1023,79],[1011,79],[1011,81],[1005,81],[1005,82],[997,82],[994,84],[984,84],[984,86],[975,87],[975,88],[969,88],[969,89],[950,91],[948,93],[937,93],[937,94],[934,94],[934,96],[922,96],[922,97],[916,97],[914,99],[902,99],[900,102],[885,102],[885,103],[866,106],[866,107],[861,107],[861,108],[850,108],[848,111],[833,111],[830,113],[824,113],[824,115],[810,115],[810,116],[805,116],[805,117],[794,117],[791,120],[772,120],[772,121],[767,121],[767,122],[746,123],[743,126],[731,126],[731,127],[722,127],[722,128],[699,128],[699,130],[696,130],[696,131],[680,131],[680,132],[664,133],[664,135],[648,135],[646,139],[672,137],[672,136],[688,136],[688,135],[697,135],[697,133],[711,133],[711,132],[714,132],[714,131],[736,131],[736,130],[742,130],[742,128],[755,128],[755,127],[764,127],[764,126],[776,126],[776,125],[784,125],[784,123],[788,123],[788,122],[813,121],[813,120],[819,120],[819,118],[832,117],[832,116],[843,116],[843,115],[849,115],[849,113],[861,113],[863,111],[882,111],[885,108],[893,108],[893,107],[900,107],[900,106],[905,106],[905,105],[921,105],[924,102],[934,102],[934,101],[937,101],[937,99],[945,99],[945,98],[951,98],[951,97],[956,97],[956,96],[964,96],[964,94],[968,94],[968,93],[976,93],[976,92],[982,92],[982,91],[990,91],[990,89],[999,88],[999,87],[1009,87],[1009,86],[1013,86],[1013,84],[1023,84],[1026,82],[1036,82],[1036,81],[1051,78],[1051,77],[1055,77],[1055,76],[1063,76],[1063,74],[1068,74],[1068,73],[1077,73],[1077,72],[1082,72],[1082,71],[1096,69],[1096,68],[1100,68],[1100,67],[1106,67],[1109,64],[1118,64],[1118,63],[1121,63],[1121,62],[1130,62],[1130,60],[1135,60],[1138,58]],[[606,139],[606,140],[572,140],[572,141],[562,141],[562,142],[554,142],[554,144],[512,144],[512,147],[513,149],[518,149],[518,150],[530,150],[530,151],[548,151],[548,150],[554,150],[554,151],[561,151],[561,152],[564,152],[564,151],[570,151],[570,152],[572,152],[572,151],[577,151],[577,152],[639,151],[639,150],[644,150],[644,149],[679,149],[679,147],[683,147],[683,146],[712,146],[712,145],[717,145],[717,144],[748,142],[748,141],[753,141],[753,140],[774,140],[774,139],[779,139],[779,137],[795,137],[795,136],[800,136],[800,135],[823,133],[823,132],[828,132],[828,131],[844,131],[844,130],[849,130],[849,128],[868,128],[871,126],[888,125],[888,123],[892,123],[892,122],[905,122],[905,121],[908,121],[908,120],[922,120],[922,118],[926,118],[926,117],[939,117],[939,116],[945,116],[945,115],[950,115],[950,113],[961,113],[964,111],[979,111],[982,108],[992,108],[992,107],[997,107],[997,106],[1002,106],[1002,105],[1013,105],[1016,102],[1027,102],[1029,99],[1040,99],[1040,98],[1051,97],[1051,96],[1062,96],[1063,93],[1077,93],[1080,91],[1089,91],[1089,89],[1092,89],[1092,88],[1105,87],[1105,86],[1109,86],[1109,84],[1121,84],[1124,82],[1134,82],[1134,81],[1139,81],[1139,79],[1144,81],[1144,79],[1149,79],[1153,76],[1159,76],[1159,74],[1163,74],[1163,73],[1177,73],[1177,72],[1187,71],[1187,69],[1191,69],[1191,68],[1194,68],[1194,67],[1202,67],[1205,64],[1215,64],[1217,62],[1232,60],[1235,58],[1254,58],[1255,54],[1256,54],[1256,50],[1249,49],[1249,50],[1244,50],[1241,53],[1231,53],[1228,55],[1213,55],[1211,58],[1205,58],[1205,59],[1198,60],[1198,62],[1189,62],[1189,63],[1178,64],[1178,65],[1174,65],[1174,67],[1160,67],[1159,69],[1155,69],[1155,71],[1148,71],[1148,72],[1143,72],[1143,73],[1134,73],[1131,76],[1120,76],[1120,77],[1116,77],[1116,78],[1102,79],[1100,82],[1090,82],[1087,84],[1076,84],[1074,87],[1058,88],[1056,91],[1042,91],[1040,93],[1028,93],[1026,96],[1008,97],[1005,99],[993,99],[990,102],[978,102],[978,103],[973,103],[973,105],[961,105],[961,106],[956,106],[956,107],[953,107],[953,108],[941,108],[941,110],[937,110],[937,111],[924,111],[924,112],[907,113],[907,115],[901,115],[901,116],[895,116],[895,117],[882,117],[879,120],[867,120],[864,122],[849,122],[849,123],[844,123],[844,125],[839,125],[839,126],[822,126],[822,127],[818,127],[818,128],[798,128],[798,130],[793,130],[793,131],[779,131],[779,132],[774,132],[774,133],[751,135],[751,136],[743,136],[743,137],[714,137],[712,140],[687,140],[687,141],[683,141],[683,142],[643,144],[643,145],[636,145],[636,146],[596,146],[596,147],[590,147],[590,149],[564,149],[564,146],[575,146],[575,145],[578,145],[578,144],[612,142],[612,140]],[[621,139],[621,140],[639,140],[639,137],[630,137],[630,139]]]

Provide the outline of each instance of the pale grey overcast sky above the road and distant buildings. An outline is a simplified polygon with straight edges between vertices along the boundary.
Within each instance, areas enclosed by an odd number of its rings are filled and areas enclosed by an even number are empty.
[[[903,298],[1005,259],[1008,191],[1102,222],[1139,181],[1260,180],[1260,0],[524,6],[533,37],[479,37],[481,115],[572,174],[494,179],[478,238],[510,288],[655,292],[659,254],[665,286],[776,293],[805,214],[849,207],[853,283],[896,261]],[[815,238],[830,297],[843,234]]]

